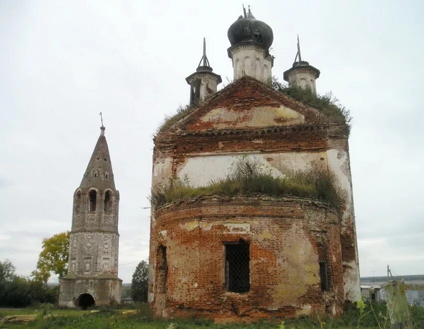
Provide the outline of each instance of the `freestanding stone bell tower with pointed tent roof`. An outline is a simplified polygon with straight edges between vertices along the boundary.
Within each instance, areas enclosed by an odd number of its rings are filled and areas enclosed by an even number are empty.
[[[119,191],[115,188],[103,125],[100,131],[81,184],[73,196],[68,274],[60,280],[61,306],[85,309],[121,301]]]

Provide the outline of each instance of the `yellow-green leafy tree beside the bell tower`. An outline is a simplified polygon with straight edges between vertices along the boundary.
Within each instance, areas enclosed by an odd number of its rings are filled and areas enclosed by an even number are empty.
[[[59,279],[68,273],[69,231],[58,233],[43,240],[37,269],[31,275],[35,281],[47,283],[51,273]]]

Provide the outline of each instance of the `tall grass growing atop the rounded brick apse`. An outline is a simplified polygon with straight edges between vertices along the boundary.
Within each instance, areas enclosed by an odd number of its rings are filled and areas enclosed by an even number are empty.
[[[340,209],[343,193],[336,187],[334,174],[323,171],[311,163],[304,171],[292,172],[286,176],[273,176],[255,158],[238,158],[224,179],[195,187],[185,178],[174,177],[162,187],[154,187],[151,202],[154,209],[184,198],[202,195],[235,196],[267,194],[270,196],[297,196],[315,198]]]

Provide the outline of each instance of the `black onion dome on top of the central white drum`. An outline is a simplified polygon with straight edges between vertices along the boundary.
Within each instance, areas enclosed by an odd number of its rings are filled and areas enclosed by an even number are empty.
[[[254,41],[260,43],[266,50],[274,40],[271,27],[263,21],[257,20],[250,9],[244,18],[240,16],[231,24],[227,35],[231,46],[239,42]]]

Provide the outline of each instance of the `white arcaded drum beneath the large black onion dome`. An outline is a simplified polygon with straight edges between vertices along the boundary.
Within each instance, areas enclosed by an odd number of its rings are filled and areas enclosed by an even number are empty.
[[[272,76],[272,63],[265,58],[264,50],[255,46],[240,46],[232,53],[234,80],[244,75],[266,83]]]

